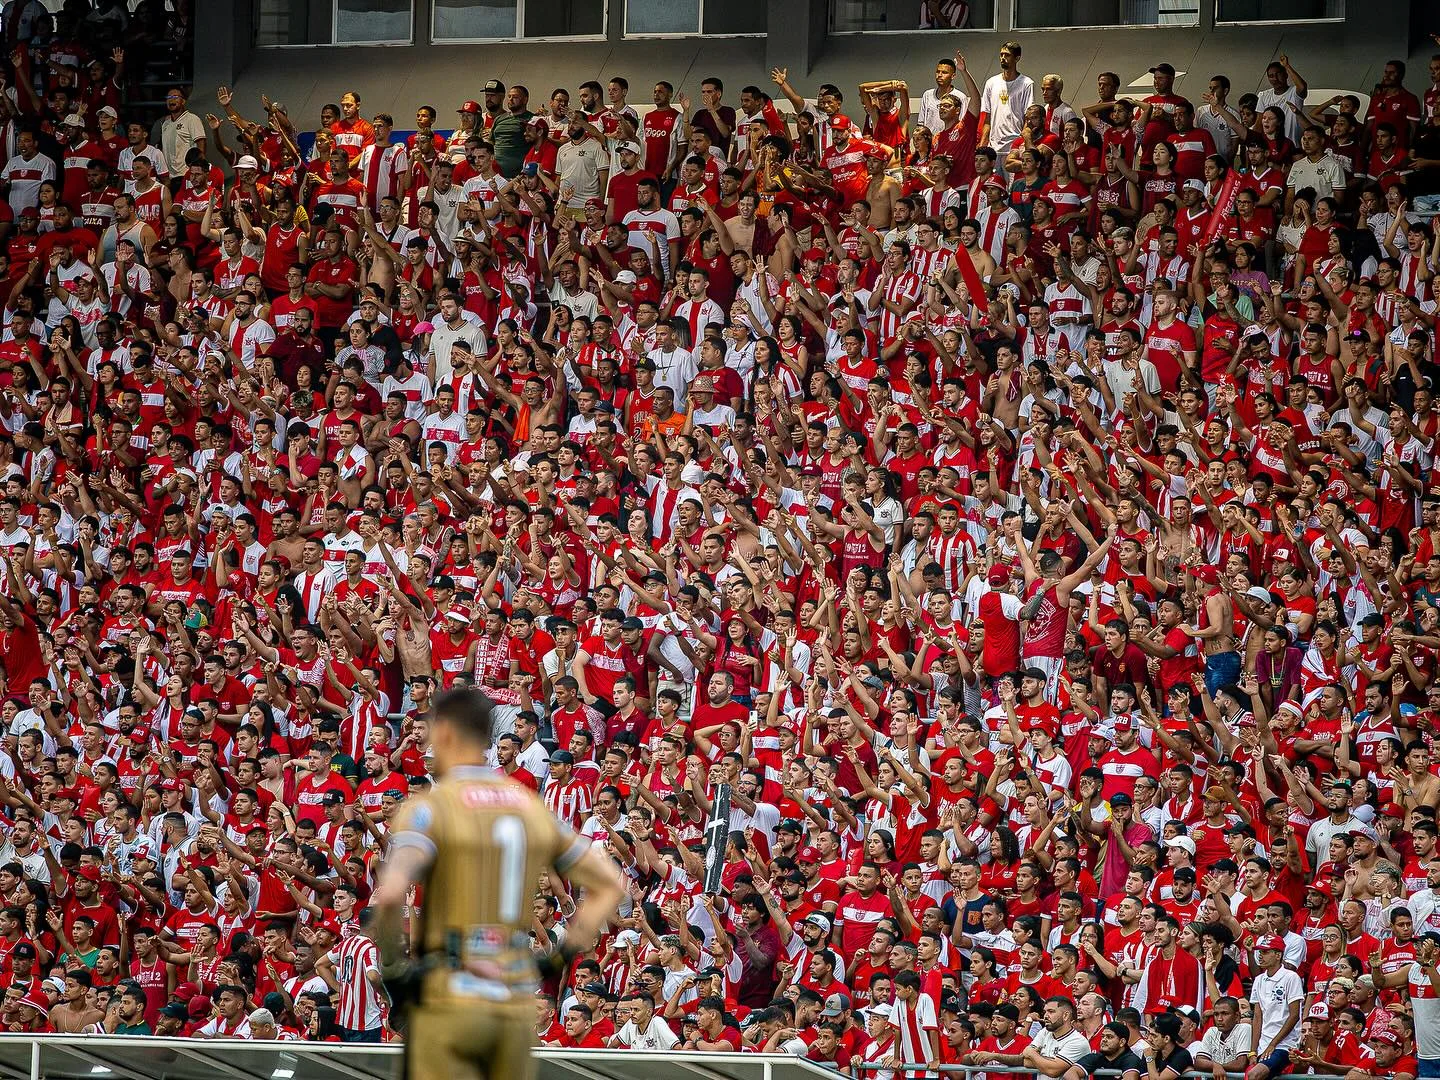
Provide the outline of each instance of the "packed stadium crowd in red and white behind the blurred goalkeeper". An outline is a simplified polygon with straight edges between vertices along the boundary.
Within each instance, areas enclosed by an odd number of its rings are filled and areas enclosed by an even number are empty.
[[[1440,1076],[1440,56],[491,79],[399,140],[151,127],[30,9],[4,1030],[393,1038],[366,901],[472,683],[629,883],[544,1044]]]

